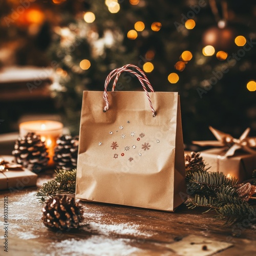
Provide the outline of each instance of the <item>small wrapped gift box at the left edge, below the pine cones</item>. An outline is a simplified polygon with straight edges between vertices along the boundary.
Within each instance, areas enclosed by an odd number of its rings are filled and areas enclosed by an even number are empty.
[[[13,157],[3,156],[5,161],[12,162]],[[35,186],[37,175],[30,170],[9,170],[0,172],[0,190],[4,189],[23,189],[28,186]]]

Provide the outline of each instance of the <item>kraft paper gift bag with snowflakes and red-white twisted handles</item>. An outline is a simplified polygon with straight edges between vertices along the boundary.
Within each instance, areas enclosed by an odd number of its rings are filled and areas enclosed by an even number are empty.
[[[122,72],[136,76],[144,91],[114,91]],[[84,91],[76,184],[76,198],[86,201],[165,211],[182,204],[186,185],[178,93],[154,92],[134,65],[113,70],[103,95]]]

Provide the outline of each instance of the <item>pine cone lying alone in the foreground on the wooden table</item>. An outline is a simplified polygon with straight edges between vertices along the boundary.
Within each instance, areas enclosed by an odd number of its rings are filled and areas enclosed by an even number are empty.
[[[49,227],[60,230],[77,228],[83,221],[83,210],[75,198],[57,196],[47,201],[42,208],[42,222]]]

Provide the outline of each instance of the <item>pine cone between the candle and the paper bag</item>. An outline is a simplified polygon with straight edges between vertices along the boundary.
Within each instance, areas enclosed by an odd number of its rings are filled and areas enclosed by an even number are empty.
[[[53,160],[59,169],[72,170],[77,166],[78,136],[62,135],[54,148]]]

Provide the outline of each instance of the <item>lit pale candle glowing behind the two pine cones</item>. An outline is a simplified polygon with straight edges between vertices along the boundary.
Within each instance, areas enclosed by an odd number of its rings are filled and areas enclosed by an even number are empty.
[[[48,148],[49,165],[52,165],[54,156],[54,147],[57,138],[62,134],[63,124],[57,121],[29,121],[19,124],[19,135],[25,136],[29,132],[33,132],[41,136],[41,140],[45,142]]]

